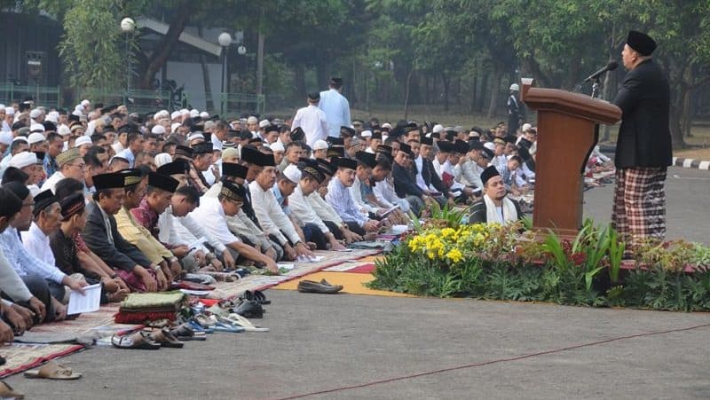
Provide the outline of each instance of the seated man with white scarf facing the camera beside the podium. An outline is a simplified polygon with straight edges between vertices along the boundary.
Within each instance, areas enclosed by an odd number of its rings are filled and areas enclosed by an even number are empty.
[[[471,206],[469,224],[510,224],[523,217],[523,212],[516,201],[506,197],[505,185],[501,174],[493,165],[481,174],[483,181],[483,199]]]

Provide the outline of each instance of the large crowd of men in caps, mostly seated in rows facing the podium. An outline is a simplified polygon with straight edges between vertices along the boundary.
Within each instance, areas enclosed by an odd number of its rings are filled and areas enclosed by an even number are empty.
[[[185,272],[278,273],[434,201],[475,204],[472,222],[522,215],[506,194],[533,183],[535,129],[350,121],[339,84],[291,123],[89,100],[0,106],[0,340],[67,318],[68,293],[87,285],[118,302]]]

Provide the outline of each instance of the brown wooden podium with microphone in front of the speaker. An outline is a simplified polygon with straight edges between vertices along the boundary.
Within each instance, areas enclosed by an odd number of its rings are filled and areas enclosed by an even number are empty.
[[[584,167],[599,124],[619,122],[621,109],[579,93],[534,88],[530,78],[523,79],[522,100],[538,112],[533,229],[573,237],[582,225]]]

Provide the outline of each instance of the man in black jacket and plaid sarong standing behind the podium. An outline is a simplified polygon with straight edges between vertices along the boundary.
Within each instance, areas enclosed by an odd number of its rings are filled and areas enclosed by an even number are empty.
[[[662,240],[666,235],[666,172],[672,163],[668,129],[670,87],[651,59],[656,42],[630,31],[621,51],[628,73],[613,103],[621,108],[616,142],[616,192],[611,225],[619,236]]]

